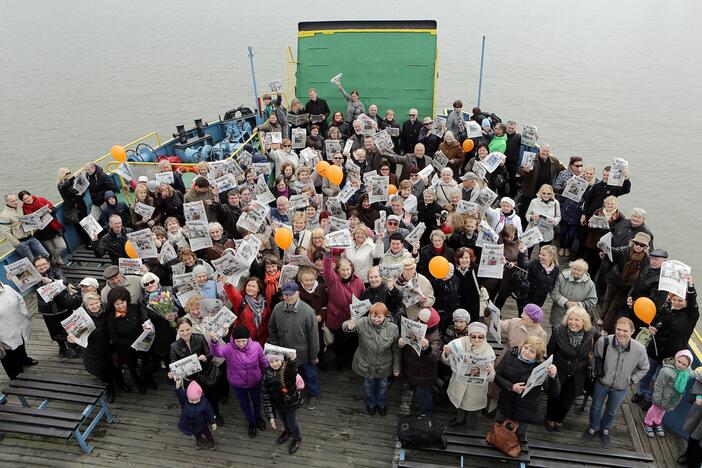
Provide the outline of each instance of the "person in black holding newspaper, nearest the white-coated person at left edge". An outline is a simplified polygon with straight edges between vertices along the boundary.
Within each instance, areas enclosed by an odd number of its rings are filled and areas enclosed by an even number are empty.
[[[63,282],[66,289],[58,293],[49,302],[44,301],[39,291],[37,290],[37,309],[44,319],[46,329],[49,331],[49,336],[59,346],[59,357],[76,357],[76,349],[73,345],[67,345],[67,333],[61,325],[61,321],[71,316],[73,311],[80,307],[82,298],[80,293],[76,293],[71,289],[68,280],[63,276],[63,272],[58,267],[51,266],[51,262],[47,257],[36,257],[34,259],[34,267],[42,276],[42,281],[38,287],[45,286],[55,281]]]

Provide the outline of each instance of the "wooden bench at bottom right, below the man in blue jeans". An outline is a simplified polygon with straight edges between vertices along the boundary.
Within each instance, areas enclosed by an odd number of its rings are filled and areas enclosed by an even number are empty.
[[[529,466],[561,468],[572,466],[606,466],[651,468],[653,456],[642,452],[565,445],[556,442],[529,441]]]

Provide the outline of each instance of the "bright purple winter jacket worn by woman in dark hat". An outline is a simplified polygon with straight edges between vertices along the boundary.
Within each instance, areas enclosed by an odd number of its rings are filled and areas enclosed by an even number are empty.
[[[218,340],[210,341],[213,356],[227,361],[227,380],[229,385],[237,388],[253,388],[263,380],[263,372],[268,367],[268,360],[263,348],[257,341],[249,338],[243,349],[233,341],[227,344]]]

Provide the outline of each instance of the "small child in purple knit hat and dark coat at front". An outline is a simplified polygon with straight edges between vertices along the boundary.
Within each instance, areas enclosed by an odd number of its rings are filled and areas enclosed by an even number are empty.
[[[181,407],[180,420],[178,421],[180,432],[193,436],[198,450],[204,449],[205,444],[210,451],[216,450],[214,436],[210,431],[210,427],[213,431],[217,430],[215,415],[207,398],[202,398],[200,385],[193,380],[188,385],[187,391],[180,386],[176,390],[176,395]]]

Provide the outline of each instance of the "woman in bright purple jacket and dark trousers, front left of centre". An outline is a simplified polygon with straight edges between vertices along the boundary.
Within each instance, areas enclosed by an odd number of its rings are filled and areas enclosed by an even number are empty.
[[[249,422],[249,437],[253,438],[256,428],[266,429],[266,422],[261,418],[261,380],[268,360],[261,345],[250,336],[249,329],[243,325],[234,329],[227,344],[211,335],[210,352],[227,361],[227,379]]]

